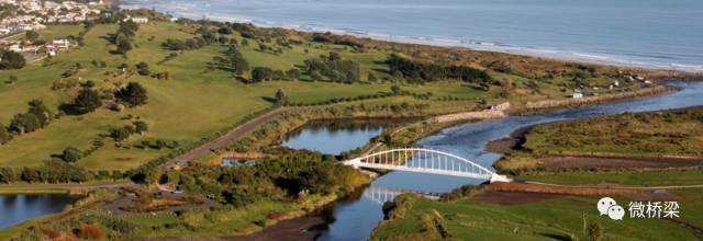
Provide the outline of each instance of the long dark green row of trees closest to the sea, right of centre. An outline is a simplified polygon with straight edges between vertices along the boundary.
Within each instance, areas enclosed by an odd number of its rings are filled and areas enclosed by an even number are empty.
[[[442,66],[414,61],[399,55],[391,55],[388,60],[391,74],[400,76],[408,80],[436,81],[436,80],[462,80],[473,83],[488,83],[492,78],[488,72],[468,66]]]

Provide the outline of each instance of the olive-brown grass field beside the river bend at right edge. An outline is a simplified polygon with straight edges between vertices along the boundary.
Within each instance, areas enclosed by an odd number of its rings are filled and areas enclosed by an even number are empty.
[[[702,157],[703,110],[621,114],[540,125],[524,147],[540,154]]]

